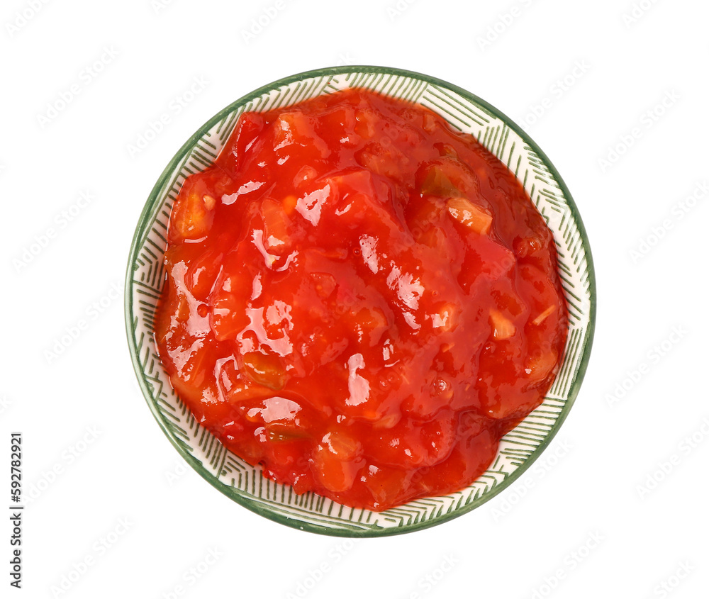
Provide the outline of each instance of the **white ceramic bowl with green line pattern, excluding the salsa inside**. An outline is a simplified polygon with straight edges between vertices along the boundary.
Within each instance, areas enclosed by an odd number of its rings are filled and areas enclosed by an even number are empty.
[[[544,402],[505,435],[489,469],[446,496],[413,500],[383,512],[349,508],[314,493],[296,495],[229,452],[196,422],[169,383],[152,335],[164,281],[169,211],[182,181],[211,164],[241,113],[267,111],[347,87],[367,88],[426,106],[471,133],[508,166],[554,235],[569,306],[569,335],[559,374]],[[208,483],[255,513],[300,530],[372,537],[420,530],[467,513],[510,486],[556,435],[584,378],[593,340],[596,284],[588,239],[569,190],[544,152],[496,108],[427,75],[384,67],[335,67],[279,79],[213,116],[180,148],[147,198],[130,247],[125,282],[128,345],[147,405],[167,438]]]

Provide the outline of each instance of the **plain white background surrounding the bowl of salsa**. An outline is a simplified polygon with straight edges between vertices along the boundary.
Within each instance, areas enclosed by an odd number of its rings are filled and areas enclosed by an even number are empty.
[[[709,8],[463,5],[2,3],[3,597],[705,596]],[[184,471],[135,383],[117,291],[182,143],[253,89],[338,64],[430,74],[525,125],[579,206],[598,277],[584,386],[534,468],[457,520],[354,543],[254,515]],[[11,431],[19,591],[2,515]]]

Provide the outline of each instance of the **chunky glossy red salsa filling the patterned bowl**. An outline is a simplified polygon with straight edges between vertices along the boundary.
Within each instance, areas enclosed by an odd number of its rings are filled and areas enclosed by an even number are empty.
[[[172,385],[264,474],[384,510],[459,491],[567,332],[554,240],[506,166],[365,90],[244,113],[172,207]]]

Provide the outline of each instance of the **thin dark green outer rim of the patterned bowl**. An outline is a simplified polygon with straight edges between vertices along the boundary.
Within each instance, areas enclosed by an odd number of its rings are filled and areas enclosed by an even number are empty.
[[[454,508],[448,513],[435,515],[423,522],[415,522],[413,524],[406,524],[398,527],[381,527],[362,530],[331,528],[325,525],[318,525],[313,522],[297,520],[295,518],[289,518],[286,515],[275,513],[274,511],[269,510],[269,508],[264,506],[262,503],[257,503],[255,501],[252,501],[247,496],[243,496],[237,491],[237,489],[221,482],[218,476],[214,476],[211,472],[204,468],[201,461],[192,456],[189,452],[186,451],[186,449],[184,449],[184,447],[182,447],[182,445],[179,444],[179,442],[177,442],[177,439],[174,437],[174,435],[172,435],[172,432],[170,432],[170,430],[168,429],[166,422],[164,422],[162,414],[157,409],[157,406],[155,405],[155,402],[152,399],[152,394],[147,388],[147,384],[145,383],[145,380],[142,376],[143,367],[140,364],[138,347],[135,343],[135,335],[133,334],[133,264],[135,264],[135,259],[138,256],[138,251],[140,250],[140,247],[142,247],[142,240],[144,234],[147,231],[147,217],[154,211],[157,203],[162,203],[163,198],[161,191],[164,189],[164,186],[167,184],[167,181],[169,181],[169,178],[172,176],[172,174],[174,174],[174,170],[179,164],[179,162],[181,162],[185,157],[187,157],[189,153],[194,149],[196,143],[201,140],[203,135],[209,130],[211,130],[211,128],[213,128],[219,121],[225,118],[225,116],[237,110],[240,106],[244,106],[249,101],[257,99],[259,96],[262,96],[262,94],[266,94],[269,91],[273,91],[274,89],[277,89],[281,86],[289,85],[291,83],[298,82],[303,79],[323,77],[328,75],[345,75],[348,73],[392,74],[399,77],[411,77],[412,79],[418,79],[427,84],[442,86],[445,89],[454,91],[455,93],[471,101],[472,103],[481,106],[481,108],[484,108],[484,110],[491,113],[492,116],[503,121],[506,126],[508,126],[515,133],[517,133],[520,138],[525,141],[525,143],[530,147],[530,149],[533,150],[535,154],[540,158],[540,160],[545,164],[545,167],[547,167],[549,173],[552,175],[554,181],[558,184],[559,189],[561,189],[564,195],[564,199],[566,200],[569,212],[571,213],[571,218],[573,219],[574,224],[576,225],[576,228],[579,231],[579,236],[581,237],[581,245],[584,249],[584,257],[586,259],[586,272],[588,274],[589,296],[588,326],[586,328],[586,334],[579,341],[579,347],[582,353],[579,359],[579,364],[573,374],[571,383],[569,385],[568,396],[566,398],[566,401],[564,401],[564,406],[559,411],[559,415],[554,421],[552,428],[549,430],[549,432],[542,440],[542,442],[540,442],[537,448],[529,455],[529,457],[527,457],[527,459],[525,459],[523,464],[518,466],[512,473],[506,476],[503,481],[496,484],[496,486],[491,488],[489,491],[483,493],[480,497],[471,500],[466,505]],[[532,138],[530,138],[530,135],[526,133],[517,123],[515,123],[515,121],[513,121],[495,106],[492,106],[484,99],[479,98],[479,96],[476,96],[475,94],[472,94],[471,92],[462,89],[461,87],[455,84],[447,82],[443,79],[438,79],[437,77],[432,77],[428,74],[393,67],[381,67],[374,65],[343,65],[340,67],[313,69],[298,74],[290,75],[289,77],[282,77],[280,79],[276,79],[275,81],[269,84],[261,86],[258,89],[255,89],[254,91],[250,91],[248,94],[241,96],[238,100],[233,101],[228,106],[225,106],[225,108],[216,113],[216,115],[209,118],[208,121],[206,121],[206,123],[204,123],[198,130],[196,130],[196,132],[192,134],[189,139],[186,140],[186,142],[184,142],[182,147],[177,150],[172,159],[169,160],[167,166],[163,169],[162,174],[160,174],[160,177],[158,177],[157,182],[150,191],[150,194],[147,196],[147,201],[145,201],[143,210],[141,211],[140,217],[138,218],[138,224],[136,225],[135,233],[133,234],[133,240],[130,244],[130,252],[128,255],[128,267],[126,269],[124,286],[125,332],[128,337],[128,349],[130,351],[131,362],[133,363],[133,371],[136,378],[138,379],[138,385],[140,386],[140,391],[142,391],[143,393],[143,398],[145,399],[148,407],[150,408],[152,415],[155,417],[155,420],[157,420],[158,425],[160,425],[162,432],[167,437],[169,442],[175,449],[177,449],[177,452],[180,454],[180,456],[187,462],[187,464],[189,464],[189,466],[191,466],[192,469],[194,469],[194,471],[197,472],[197,474],[199,474],[208,483],[210,483],[211,486],[216,488],[218,491],[220,491],[220,493],[223,493],[231,500],[234,500],[236,503],[252,511],[253,513],[256,513],[263,517],[267,517],[269,520],[272,520],[274,522],[279,522],[280,524],[295,528],[296,530],[306,530],[308,532],[314,532],[316,534],[325,534],[333,537],[385,537],[394,534],[404,534],[407,532],[413,532],[415,530],[422,530],[432,526],[440,525],[443,522],[449,522],[454,518],[469,513],[471,510],[474,510],[480,505],[486,503],[487,501],[497,496],[498,493],[501,493],[506,488],[508,488],[512,483],[514,483],[518,478],[520,478],[520,476],[522,476],[525,471],[527,471],[527,469],[529,469],[530,466],[532,466],[532,464],[540,457],[542,452],[544,452],[544,450],[548,447],[549,443],[551,443],[554,437],[557,435],[557,432],[559,432],[559,428],[562,426],[564,420],[566,420],[566,417],[569,414],[569,410],[571,410],[572,405],[574,405],[574,402],[576,401],[576,396],[578,396],[581,384],[584,381],[584,376],[586,375],[586,370],[588,368],[588,362],[591,358],[591,349],[593,347],[593,337],[596,328],[596,293],[596,271],[593,266],[591,245],[588,241],[588,234],[586,233],[584,222],[581,219],[581,215],[579,213],[578,208],[576,207],[574,198],[571,196],[571,192],[569,191],[568,187],[566,186],[566,183],[562,179],[556,167],[554,167],[554,164],[552,164],[551,160],[549,160],[549,157],[547,157],[547,155],[545,154],[545,152],[542,151],[539,145],[537,145],[537,143],[532,140]]]

